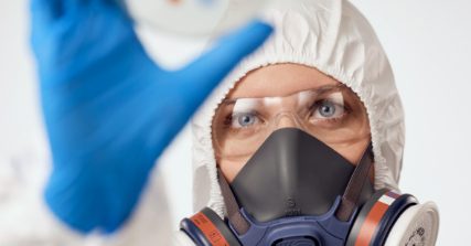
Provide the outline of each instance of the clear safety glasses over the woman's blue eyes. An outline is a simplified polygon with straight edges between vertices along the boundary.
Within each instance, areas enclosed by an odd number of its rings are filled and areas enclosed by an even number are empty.
[[[333,147],[370,136],[363,103],[344,85],[288,96],[225,99],[213,119],[213,145],[222,158],[247,158],[277,129],[299,128]]]

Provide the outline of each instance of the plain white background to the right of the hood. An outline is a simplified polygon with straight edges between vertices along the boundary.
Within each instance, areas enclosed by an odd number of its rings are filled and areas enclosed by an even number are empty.
[[[437,202],[438,245],[470,245],[471,2],[354,2],[383,42],[405,106],[400,188]]]

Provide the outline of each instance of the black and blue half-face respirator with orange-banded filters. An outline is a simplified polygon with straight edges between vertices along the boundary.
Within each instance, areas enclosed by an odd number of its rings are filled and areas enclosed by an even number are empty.
[[[234,181],[220,171],[227,207],[181,222],[196,245],[435,245],[438,211],[410,194],[375,191],[371,146],[354,165],[315,137],[274,131]]]

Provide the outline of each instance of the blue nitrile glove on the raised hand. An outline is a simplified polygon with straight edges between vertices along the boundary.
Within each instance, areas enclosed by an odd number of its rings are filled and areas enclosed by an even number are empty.
[[[53,156],[51,210],[81,232],[114,232],[156,159],[213,87],[271,28],[253,22],[191,65],[156,65],[117,0],[32,0],[32,45]]]

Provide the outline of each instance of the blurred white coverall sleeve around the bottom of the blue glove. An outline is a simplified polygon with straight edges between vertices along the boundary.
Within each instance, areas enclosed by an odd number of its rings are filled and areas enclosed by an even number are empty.
[[[178,225],[169,226],[167,194],[157,169],[132,217],[108,236],[78,234],[53,215],[43,199],[50,169],[43,147],[35,145],[0,159],[0,246],[171,245]]]

